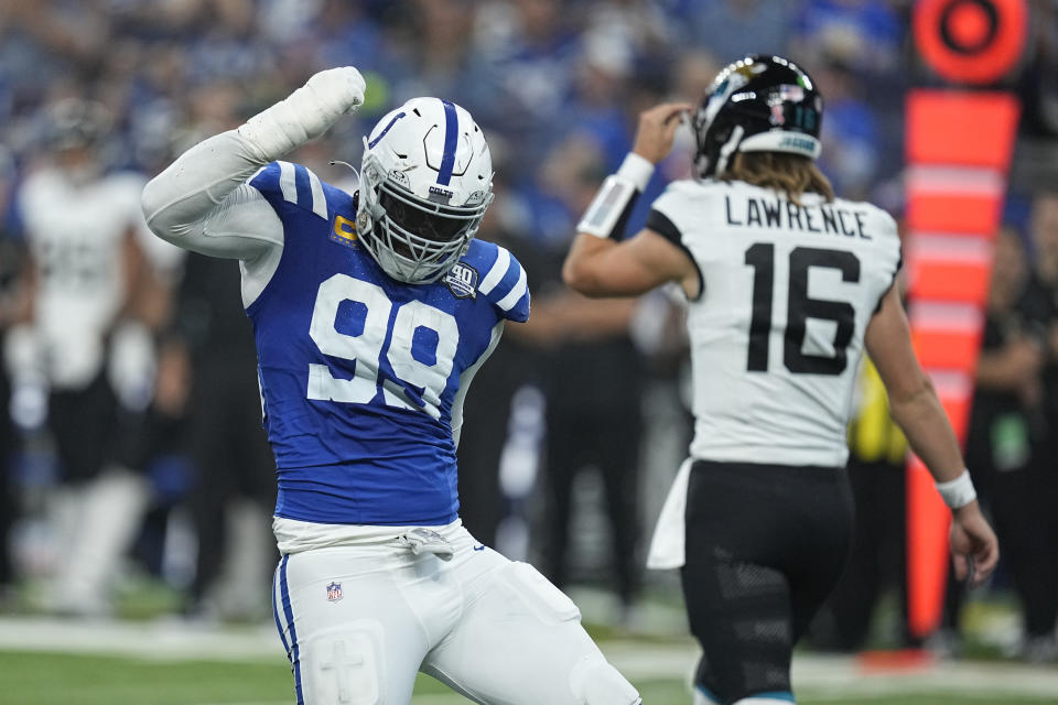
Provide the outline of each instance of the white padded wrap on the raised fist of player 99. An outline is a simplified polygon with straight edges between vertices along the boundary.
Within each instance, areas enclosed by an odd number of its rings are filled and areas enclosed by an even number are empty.
[[[364,77],[352,66],[328,68],[239,128],[262,163],[322,135],[364,102]]]

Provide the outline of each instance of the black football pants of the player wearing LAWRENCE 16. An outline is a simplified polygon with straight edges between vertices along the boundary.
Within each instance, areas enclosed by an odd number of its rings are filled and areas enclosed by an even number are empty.
[[[794,644],[852,542],[845,469],[697,460],[685,521],[683,594],[703,650],[695,686],[724,705],[789,696]]]

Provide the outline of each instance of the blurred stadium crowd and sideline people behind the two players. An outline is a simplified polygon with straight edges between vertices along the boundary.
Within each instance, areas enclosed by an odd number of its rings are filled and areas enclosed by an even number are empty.
[[[4,608],[108,614],[132,558],[188,615],[267,610],[274,488],[238,267],[141,237],[129,194],[195,141],[349,64],[367,102],[290,159],[353,187],[332,160],[358,166],[376,119],[413,96],[452,99],[494,153],[482,236],[530,273],[533,317],[508,330],[467,401],[464,521],[560,585],[612,585],[630,618],[643,544],[690,434],[680,311],[665,296],[595,303],[564,290],[575,219],[641,109],[697,101],[746,52],[812,73],[827,100],[823,170],[840,194],[899,216],[904,95],[933,80],[909,47],[910,4],[0,0]],[[1029,54],[1004,87],[1023,100],[1023,138],[1046,143],[1058,140],[1058,3],[1032,11]],[[689,149],[676,152],[630,229],[689,173]],[[1016,596],[1022,654],[1045,660],[1058,654],[1058,177],[1015,183],[1006,223],[968,463],[1004,551],[992,589]],[[905,448],[879,389],[867,368],[850,431],[856,551],[820,647],[863,647],[878,596],[903,581]],[[585,518],[585,501],[608,521]],[[950,593],[958,634],[962,596]]]

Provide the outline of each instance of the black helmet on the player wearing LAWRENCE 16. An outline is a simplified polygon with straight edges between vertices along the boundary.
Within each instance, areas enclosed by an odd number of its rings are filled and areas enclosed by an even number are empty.
[[[720,177],[735,152],[790,152],[817,159],[823,98],[811,77],[781,56],[728,64],[705,91],[692,124],[694,166]]]

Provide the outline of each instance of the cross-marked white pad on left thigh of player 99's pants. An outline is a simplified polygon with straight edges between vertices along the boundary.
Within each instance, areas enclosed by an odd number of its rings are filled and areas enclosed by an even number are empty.
[[[382,628],[360,620],[314,634],[301,644],[301,680],[306,703],[377,705],[386,702]]]

